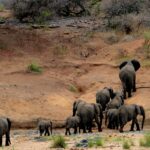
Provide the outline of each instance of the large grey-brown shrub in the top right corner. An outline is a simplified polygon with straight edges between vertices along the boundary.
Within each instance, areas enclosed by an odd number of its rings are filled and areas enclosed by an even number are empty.
[[[149,0],[103,0],[101,11],[106,27],[128,34],[141,25],[150,25],[149,3]]]

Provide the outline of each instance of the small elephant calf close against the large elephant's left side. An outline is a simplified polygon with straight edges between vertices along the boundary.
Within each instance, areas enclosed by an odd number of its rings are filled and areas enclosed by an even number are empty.
[[[77,133],[77,128],[79,127],[79,124],[80,124],[80,118],[78,116],[68,117],[66,119],[66,132],[65,132],[65,135],[67,135],[68,132],[69,132],[69,135],[71,135],[70,128],[73,128],[74,129],[74,134],[76,134]]]

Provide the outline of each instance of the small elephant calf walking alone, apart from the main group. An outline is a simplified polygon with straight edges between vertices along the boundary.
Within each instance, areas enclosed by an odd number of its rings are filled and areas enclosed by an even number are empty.
[[[44,135],[52,135],[52,121],[50,120],[40,120],[38,122],[38,129],[39,129],[39,132],[40,132],[40,136]]]

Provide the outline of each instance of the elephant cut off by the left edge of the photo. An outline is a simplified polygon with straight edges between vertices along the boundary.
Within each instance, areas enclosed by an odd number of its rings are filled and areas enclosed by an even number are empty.
[[[11,141],[10,141],[10,128],[11,128],[10,119],[5,118],[5,117],[0,118],[0,146],[2,146],[3,135],[6,135],[5,145],[9,146],[11,144]]]

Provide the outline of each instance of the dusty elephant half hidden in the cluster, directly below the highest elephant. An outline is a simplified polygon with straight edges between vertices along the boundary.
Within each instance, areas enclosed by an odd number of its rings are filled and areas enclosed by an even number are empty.
[[[116,108],[124,104],[123,95],[121,93],[116,93],[116,96],[107,104],[106,110]]]

